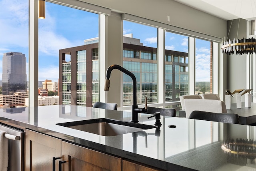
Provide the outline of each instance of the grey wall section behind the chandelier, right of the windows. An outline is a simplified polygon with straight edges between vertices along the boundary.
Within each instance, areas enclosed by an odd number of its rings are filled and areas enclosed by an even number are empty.
[[[232,23],[232,25],[231,25]],[[238,28],[239,23],[239,28]],[[230,27],[231,25],[231,27]],[[230,33],[228,35],[228,31]],[[239,30],[239,32],[238,32]],[[228,39],[242,39],[246,38],[246,20],[236,19],[227,22],[227,35]],[[246,55],[227,55],[227,89],[233,92],[235,89],[245,89],[246,88]],[[244,95],[242,96],[242,101],[244,101]],[[236,94],[234,98],[231,99],[231,103],[236,103]]]

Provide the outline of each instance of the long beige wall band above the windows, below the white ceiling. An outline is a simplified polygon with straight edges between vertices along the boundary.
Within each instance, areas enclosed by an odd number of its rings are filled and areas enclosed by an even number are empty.
[[[149,20],[218,38],[226,36],[226,21],[173,0],[81,0]],[[170,16],[170,22],[167,21]],[[216,27],[217,26],[217,27]]]

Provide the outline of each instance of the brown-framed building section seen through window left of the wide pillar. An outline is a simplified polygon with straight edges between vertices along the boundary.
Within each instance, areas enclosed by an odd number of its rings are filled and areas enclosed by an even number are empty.
[[[62,49],[59,55],[60,104],[92,107],[99,101],[98,43]]]

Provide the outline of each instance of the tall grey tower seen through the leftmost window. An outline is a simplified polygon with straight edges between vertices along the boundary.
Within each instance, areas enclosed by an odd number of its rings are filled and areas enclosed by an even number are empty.
[[[27,89],[26,57],[20,52],[8,52],[3,56],[2,94],[10,95]]]

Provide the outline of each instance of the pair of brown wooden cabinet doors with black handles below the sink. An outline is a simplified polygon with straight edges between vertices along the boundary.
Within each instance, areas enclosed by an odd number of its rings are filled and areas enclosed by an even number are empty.
[[[121,171],[122,159],[26,129],[26,171]],[[53,162],[53,157],[60,158]]]

